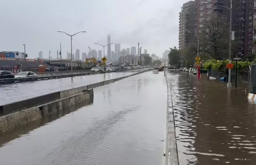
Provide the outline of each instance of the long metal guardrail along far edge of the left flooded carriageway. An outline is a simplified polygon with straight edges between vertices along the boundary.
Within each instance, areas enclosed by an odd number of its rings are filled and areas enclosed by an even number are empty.
[[[38,81],[38,80],[47,80],[47,79],[53,79],[53,78],[65,78],[65,77],[75,77],[75,76],[84,76],[84,75],[93,75],[93,74],[104,74],[108,72],[121,72],[121,71],[128,71],[128,70],[134,70],[134,69],[143,69],[143,68],[120,69],[120,70],[114,70],[114,71],[101,71],[101,72],[84,72],[84,73],[76,73],[76,74],[26,77],[26,78],[6,78],[6,79],[0,79],[0,84],[26,82],[26,81]]]

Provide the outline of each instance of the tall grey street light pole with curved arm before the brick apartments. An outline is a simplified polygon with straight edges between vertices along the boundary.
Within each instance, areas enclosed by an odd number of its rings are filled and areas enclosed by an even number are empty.
[[[211,3],[211,2],[203,2],[203,3]],[[216,4],[216,5],[219,5],[217,4],[217,2],[214,2],[214,3],[211,3],[211,4]],[[226,6],[222,6],[222,5],[219,5],[221,7],[224,7],[226,9],[229,9],[230,10],[230,28],[229,28],[229,63],[231,64],[231,38],[232,38],[232,0],[230,0],[230,8],[229,7],[226,7]],[[229,82],[227,83],[227,87],[232,87],[232,84],[231,84],[231,68],[229,68]]]

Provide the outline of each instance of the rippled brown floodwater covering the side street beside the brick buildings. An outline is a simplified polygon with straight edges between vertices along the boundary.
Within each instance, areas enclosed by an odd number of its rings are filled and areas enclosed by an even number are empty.
[[[169,71],[180,165],[255,165],[256,104],[247,84]]]

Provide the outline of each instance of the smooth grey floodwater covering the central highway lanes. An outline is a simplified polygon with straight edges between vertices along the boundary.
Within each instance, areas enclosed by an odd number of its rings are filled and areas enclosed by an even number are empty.
[[[164,164],[166,102],[163,72],[94,88],[90,105],[0,134],[0,164]]]

